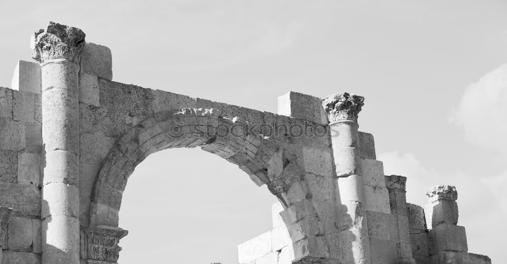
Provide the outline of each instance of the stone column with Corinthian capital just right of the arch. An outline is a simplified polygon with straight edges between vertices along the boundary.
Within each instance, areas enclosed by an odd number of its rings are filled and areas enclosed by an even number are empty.
[[[357,115],[365,98],[348,93],[330,95],[322,99],[328,115],[331,143],[336,169],[339,201],[337,224],[340,245],[344,252],[342,261],[370,263],[370,242],[366,221],[363,173],[360,171]]]

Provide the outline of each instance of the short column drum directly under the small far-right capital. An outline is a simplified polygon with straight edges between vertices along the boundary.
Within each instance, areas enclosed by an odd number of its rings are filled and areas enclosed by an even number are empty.
[[[442,223],[458,223],[458,204],[454,200],[442,199],[424,205],[424,214],[428,229]]]

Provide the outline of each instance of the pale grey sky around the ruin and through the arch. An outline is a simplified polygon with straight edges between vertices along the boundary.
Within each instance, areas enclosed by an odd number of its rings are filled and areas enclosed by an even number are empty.
[[[507,2],[0,0],[0,86],[29,36],[76,26],[113,53],[113,80],[276,112],[277,97],[365,96],[359,129],[407,200],[455,185],[468,251],[507,261]],[[237,263],[276,200],[200,149],[147,158],[127,184],[122,264]]]

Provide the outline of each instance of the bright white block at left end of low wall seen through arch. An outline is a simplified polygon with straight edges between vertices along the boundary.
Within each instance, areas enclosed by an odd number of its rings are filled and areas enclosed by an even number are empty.
[[[247,263],[271,252],[271,232],[264,233],[238,245],[240,263]]]

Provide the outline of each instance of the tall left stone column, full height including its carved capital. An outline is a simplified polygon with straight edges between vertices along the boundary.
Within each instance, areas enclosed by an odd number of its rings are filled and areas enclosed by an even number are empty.
[[[32,37],[42,70],[42,262],[79,263],[78,73],[85,33],[50,22]]]

